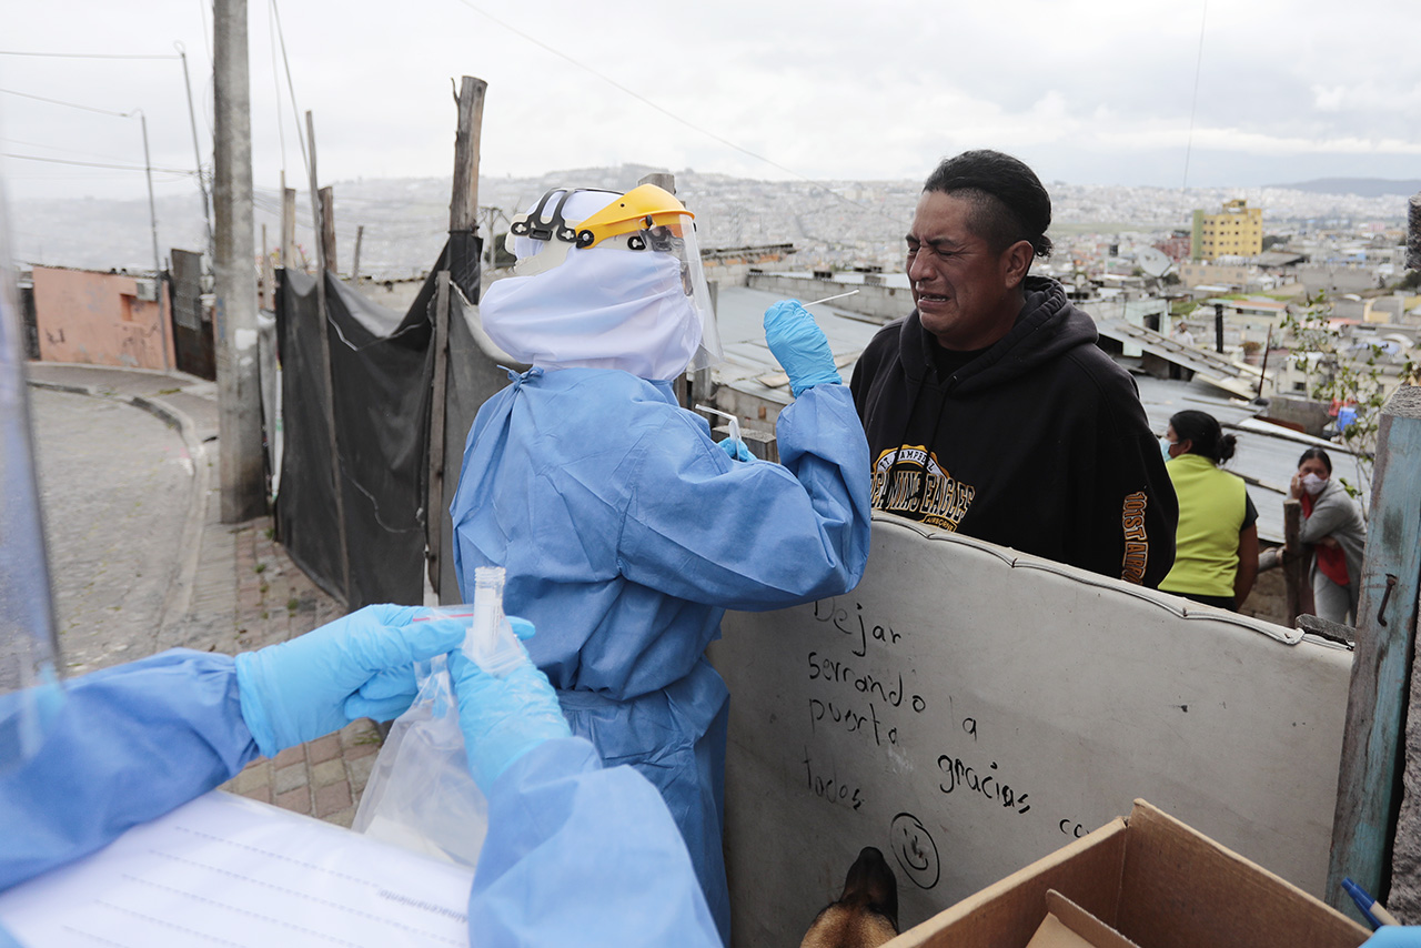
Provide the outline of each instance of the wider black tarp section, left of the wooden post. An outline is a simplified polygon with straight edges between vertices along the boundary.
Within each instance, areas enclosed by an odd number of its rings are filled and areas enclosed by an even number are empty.
[[[352,610],[423,601],[432,296],[433,277],[401,317],[327,276],[333,362],[327,375],[315,279],[283,273],[277,301],[284,436],[279,537],[307,576]],[[340,455],[348,577],[328,416]]]

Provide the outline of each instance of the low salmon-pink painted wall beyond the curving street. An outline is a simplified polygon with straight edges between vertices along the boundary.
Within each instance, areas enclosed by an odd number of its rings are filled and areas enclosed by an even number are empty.
[[[34,321],[40,360],[124,368],[171,368],[172,313],[138,298],[138,277],[90,270],[34,267]]]

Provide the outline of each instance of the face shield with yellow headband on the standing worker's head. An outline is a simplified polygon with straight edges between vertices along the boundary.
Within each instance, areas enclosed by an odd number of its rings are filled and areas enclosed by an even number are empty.
[[[701,323],[701,345],[686,371],[709,368],[723,358],[701,266],[695,215],[669,192],[655,185],[641,185],[625,195],[550,190],[529,213],[513,219],[504,247],[519,259],[513,267],[519,277],[546,273],[567,263],[571,254],[593,249],[658,254],[674,262],[685,301]]]

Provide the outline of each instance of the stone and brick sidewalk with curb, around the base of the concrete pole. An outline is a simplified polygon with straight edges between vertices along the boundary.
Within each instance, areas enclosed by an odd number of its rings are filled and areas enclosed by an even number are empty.
[[[192,493],[183,499],[188,523],[178,549],[155,553],[172,561],[166,564],[171,586],[152,651],[182,647],[236,654],[287,641],[344,614],[344,607],[273,539],[270,516],[240,524],[220,522],[215,382],[182,372],[55,362],[28,362],[26,377],[36,388],[142,408],[182,435],[193,462]],[[63,563],[51,563],[51,571],[61,569]],[[122,655],[141,657],[134,651]],[[379,742],[372,722],[357,721],[276,759],[252,762],[223,789],[350,826]]]

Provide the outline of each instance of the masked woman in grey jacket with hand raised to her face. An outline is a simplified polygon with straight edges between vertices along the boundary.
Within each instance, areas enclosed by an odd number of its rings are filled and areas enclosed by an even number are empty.
[[[1361,551],[1367,527],[1347,489],[1331,478],[1331,459],[1309,448],[1297,459],[1293,496],[1303,503],[1303,543],[1313,544],[1313,611],[1333,623],[1356,624]]]

